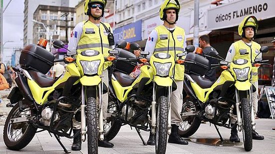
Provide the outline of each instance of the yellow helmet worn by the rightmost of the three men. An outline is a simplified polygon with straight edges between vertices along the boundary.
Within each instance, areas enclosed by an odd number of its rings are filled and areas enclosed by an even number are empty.
[[[238,33],[241,37],[245,37],[245,32],[244,32],[245,27],[253,27],[254,35],[256,35],[258,26],[259,26],[258,25],[258,20],[255,16],[253,16],[253,15],[247,16],[239,24]]]

